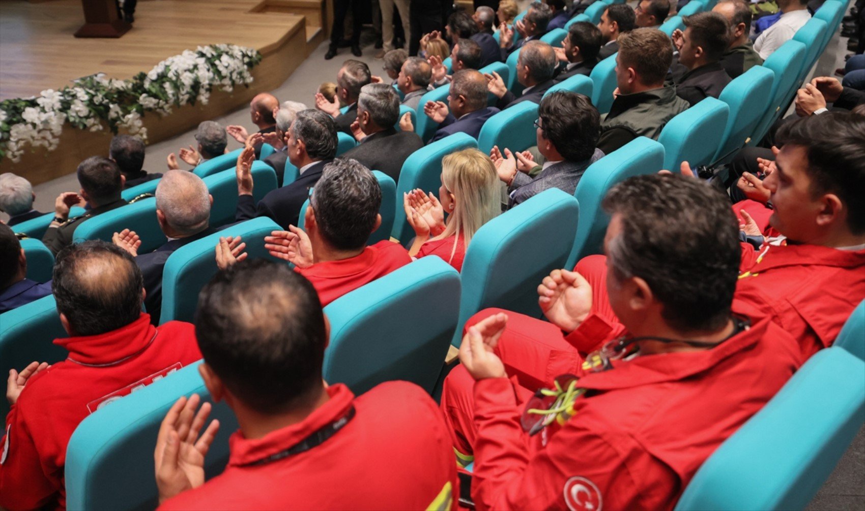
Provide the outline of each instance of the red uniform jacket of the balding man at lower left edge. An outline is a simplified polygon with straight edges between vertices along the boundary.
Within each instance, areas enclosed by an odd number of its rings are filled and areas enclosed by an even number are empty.
[[[66,508],[63,466],[75,427],[108,402],[201,359],[195,327],[148,314],[106,334],[55,339],[68,358],[33,376],[6,417],[0,506]]]

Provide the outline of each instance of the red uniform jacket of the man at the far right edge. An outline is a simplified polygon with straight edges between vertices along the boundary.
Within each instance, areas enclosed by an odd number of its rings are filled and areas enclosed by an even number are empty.
[[[764,245],[742,268],[736,299],[798,341],[802,362],[831,346],[853,309],[865,299],[865,250],[818,245]]]

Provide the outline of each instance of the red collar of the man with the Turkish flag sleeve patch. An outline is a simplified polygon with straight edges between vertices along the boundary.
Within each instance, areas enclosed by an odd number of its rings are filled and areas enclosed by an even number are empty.
[[[769,323],[769,319],[763,319],[711,350],[663,353],[637,356],[630,361],[613,361],[610,370],[587,373],[580,377],[578,386],[612,390],[683,380],[714,367],[729,356],[751,349],[766,334]]]

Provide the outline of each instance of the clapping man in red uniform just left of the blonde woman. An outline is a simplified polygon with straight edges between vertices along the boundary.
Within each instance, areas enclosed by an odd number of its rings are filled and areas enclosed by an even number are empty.
[[[271,255],[292,262],[312,282],[322,306],[375,281],[412,258],[388,240],[367,246],[381,226],[381,186],[358,161],[338,158],[324,167],[304,212],[304,229],[290,226],[265,237]],[[305,231],[304,231],[305,230]],[[227,268],[236,259],[240,237],[220,238],[217,263]]]

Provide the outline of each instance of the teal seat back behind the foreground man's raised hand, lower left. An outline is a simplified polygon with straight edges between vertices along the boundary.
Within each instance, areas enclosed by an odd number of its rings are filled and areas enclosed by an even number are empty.
[[[90,414],[69,439],[66,455],[67,508],[153,509],[159,494],[153,474],[153,450],[159,425],[181,396],[198,394],[213,403],[199,363],[165,376]],[[208,418],[219,420],[204,473],[219,475],[228,462],[228,437],[237,420],[224,401],[216,403]]]

